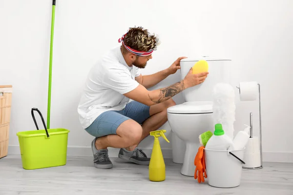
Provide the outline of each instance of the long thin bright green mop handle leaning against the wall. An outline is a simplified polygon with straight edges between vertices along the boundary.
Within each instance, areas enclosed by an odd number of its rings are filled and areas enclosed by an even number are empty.
[[[47,128],[50,129],[50,108],[51,108],[51,86],[52,86],[52,57],[53,57],[53,37],[54,37],[54,20],[55,20],[56,0],[53,0],[52,5],[52,20],[51,20],[51,40],[50,40],[50,62],[49,62],[49,86],[48,86],[48,108],[47,108]]]

